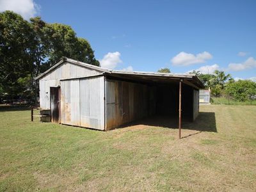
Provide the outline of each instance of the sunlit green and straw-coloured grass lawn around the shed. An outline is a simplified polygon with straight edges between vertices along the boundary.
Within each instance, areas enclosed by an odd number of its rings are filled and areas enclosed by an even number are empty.
[[[181,140],[177,129],[102,132],[0,111],[0,191],[256,191],[256,106],[200,111]]]

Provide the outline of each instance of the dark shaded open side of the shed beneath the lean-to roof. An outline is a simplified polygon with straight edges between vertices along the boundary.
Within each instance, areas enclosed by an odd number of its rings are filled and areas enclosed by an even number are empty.
[[[171,120],[179,116],[179,81],[175,79],[156,81],[123,75],[107,76],[107,82],[107,130],[148,116]],[[193,120],[193,90],[182,83],[182,118],[189,121]]]

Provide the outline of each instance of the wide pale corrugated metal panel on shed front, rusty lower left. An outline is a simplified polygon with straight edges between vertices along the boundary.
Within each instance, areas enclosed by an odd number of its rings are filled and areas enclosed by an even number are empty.
[[[104,77],[61,81],[61,124],[104,130]]]

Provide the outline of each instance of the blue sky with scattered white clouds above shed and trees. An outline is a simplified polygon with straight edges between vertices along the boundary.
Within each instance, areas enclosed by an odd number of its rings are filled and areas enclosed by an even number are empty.
[[[218,69],[256,81],[256,1],[23,0],[13,9],[28,8],[26,1],[31,15],[72,26],[104,67]]]

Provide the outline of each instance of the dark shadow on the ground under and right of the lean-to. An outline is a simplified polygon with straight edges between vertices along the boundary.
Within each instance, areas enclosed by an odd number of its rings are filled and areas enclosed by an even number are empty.
[[[154,127],[166,127],[170,129],[178,129],[179,118],[173,116],[150,116],[149,118],[143,118],[132,122],[131,124],[123,125],[122,127],[132,126],[132,125],[148,125]],[[188,118],[182,118],[182,129],[189,129],[195,131],[207,131],[207,132],[217,132],[215,113],[212,112],[200,112],[198,117],[194,122],[188,120]],[[197,132],[196,134],[200,133]]]

